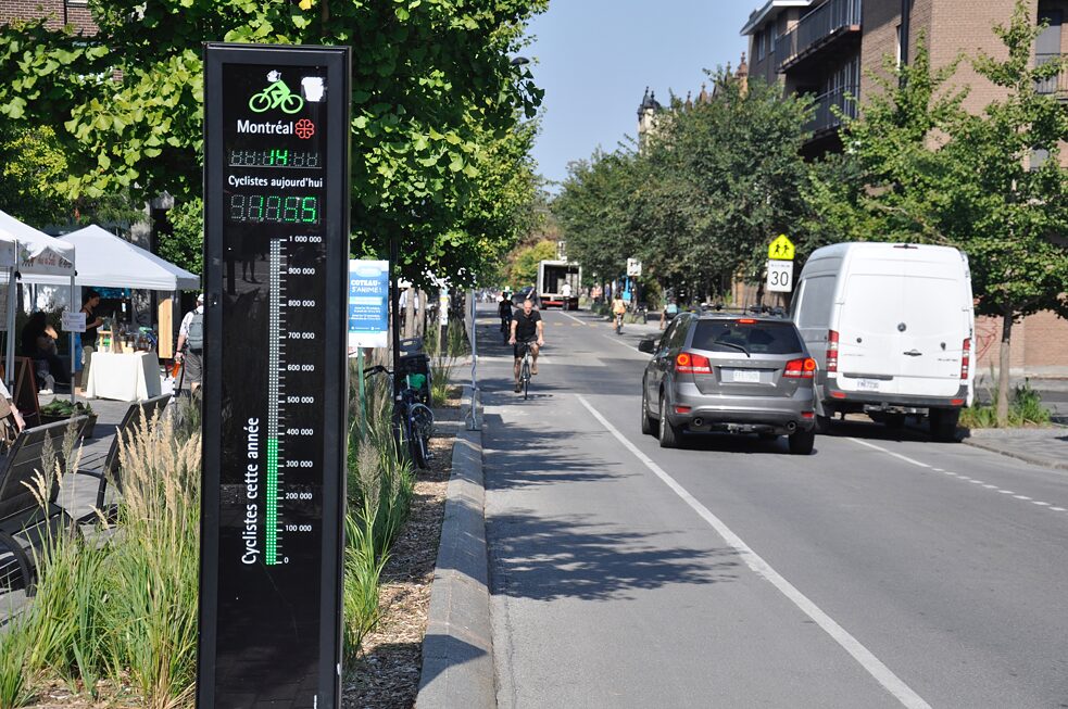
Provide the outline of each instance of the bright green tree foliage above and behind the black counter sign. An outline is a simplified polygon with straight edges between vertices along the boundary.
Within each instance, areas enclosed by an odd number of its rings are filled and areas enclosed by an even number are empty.
[[[351,45],[353,251],[474,280],[518,233],[542,97],[512,54],[548,0],[90,0],[93,36],[12,23],[0,127],[52,126],[67,198],[202,191],[205,41]],[[307,8],[306,10],[304,8]]]

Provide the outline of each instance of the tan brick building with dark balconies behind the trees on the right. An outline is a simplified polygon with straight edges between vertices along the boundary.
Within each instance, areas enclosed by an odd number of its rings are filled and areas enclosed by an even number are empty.
[[[768,0],[742,28],[749,37],[750,76],[781,81],[789,93],[814,97],[815,114],[806,126],[813,137],[808,155],[841,150],[837,107],[847,116],[878,90],[874,76],[885,76],[884,62],[908,62],[919,37],[926,38],[934,68],[962,53],[984,51],[1004,56],[995,24],[1008,24],[1015,0]],[[1032,17],[1048,23],[1035,46],[1035,61],[1068,54],[1068,0],[1030,0]],[[981,111],[1000,98],[998,89],[962,62],[951,84],[969,87],[968,111]],[[1065,101],[1068,73],[1041,90]],[[850,100],[852,97],[855,100]],[[1032,159],[1042,160],[1036,151]],[[1068,153],[1063,154],[1068,162]],[[997,366],[1001,321],[976,324],[977,374]],[[1052,313],[1026,318],[1013,329],[1012,370],[1018,376],[1068,376],[1068,321]]]

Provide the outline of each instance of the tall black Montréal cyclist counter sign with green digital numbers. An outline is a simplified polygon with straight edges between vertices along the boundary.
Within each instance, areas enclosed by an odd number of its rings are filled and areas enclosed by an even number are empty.
[[[204,51],[202,708],[341,704],[349,76]]]

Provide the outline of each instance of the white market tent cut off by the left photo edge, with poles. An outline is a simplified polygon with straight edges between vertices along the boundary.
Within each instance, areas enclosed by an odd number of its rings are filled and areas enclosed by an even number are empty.
[[[13,242],[17,253],[15,268],[25,278],[27,276],[49,276],[59,284],[71,284],[71,302],[74,302],[74,252],[73,243],[66,243],[48,236],[28,224],[23,224],[7,212],[0,211],[0,240]],[[2,263],[2,255],[0,255]],[[0,265],[2,267],[2,265]],[[8,281],[8,352],[4,372],[8,381],[14,377],[15,363],[15,279]],[[72,370],[74,360],[74,335],[71,335]],[[74,387],[71,388],[71,398],[74,398]]]

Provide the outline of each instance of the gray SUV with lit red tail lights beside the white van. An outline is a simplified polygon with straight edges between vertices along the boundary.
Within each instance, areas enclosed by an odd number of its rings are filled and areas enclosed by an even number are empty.
[[[680,314],[659,338],[642,377],[642,433],[677,447],[683,431],[790,436],[790,453],[815,441],[816,362],[790,320]]]

